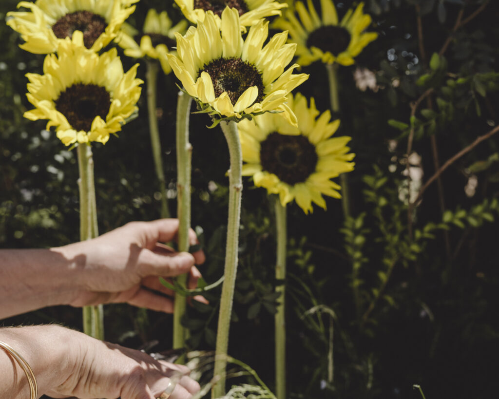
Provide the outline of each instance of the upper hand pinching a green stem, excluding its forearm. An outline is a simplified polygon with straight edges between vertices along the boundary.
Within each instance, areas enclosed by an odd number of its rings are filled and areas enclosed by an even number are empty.
[[[131,222],[97,238],[57,248],[76,265],[74,291],[68,303],[88,306],[127,302],[148,309],[173,312],[173,292],[159,276],[167,278],[190,273],[188,288],[201,277],[194,264],[205,261],[202,250],[190,254],[175,252],[161,242],[175,239],[177,219]],[[197,243],[189,232],[191,245]]]

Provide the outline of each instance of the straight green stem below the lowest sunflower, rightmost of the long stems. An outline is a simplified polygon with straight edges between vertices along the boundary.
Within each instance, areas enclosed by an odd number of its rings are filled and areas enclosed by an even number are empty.
[[[277,233],[277,256],[275,262],[275,292],[280,293],[275,320],[275,392],[277,399],[286,398],[286,321],[285,321],[285,278],[286,278],[286,206],[275,197],[275,226]]]

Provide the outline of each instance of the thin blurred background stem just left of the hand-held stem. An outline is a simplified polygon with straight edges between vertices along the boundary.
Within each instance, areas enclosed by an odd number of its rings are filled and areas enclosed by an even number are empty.
[[[161,217],[170,217],[168,199],[166,197],[166,181],[161,157],[161,142],[159,139],[158,118],[156,117],[156,90],[158,82],[159,65],[156,61],[147,61],[147,111],[149,113],[149,133],[153,150],[154,166],[159,181],[161,193]]]

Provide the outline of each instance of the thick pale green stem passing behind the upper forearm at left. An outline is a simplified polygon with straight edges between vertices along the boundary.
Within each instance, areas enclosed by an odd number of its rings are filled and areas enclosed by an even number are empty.
[[[77,147],[80,178],[80,240],[97,237],[97,206],[93,176],[93,158],[90,146],[80,144]],[[104,311],[102,305],[83,308],[83,331],[91,337],[104,339]]]

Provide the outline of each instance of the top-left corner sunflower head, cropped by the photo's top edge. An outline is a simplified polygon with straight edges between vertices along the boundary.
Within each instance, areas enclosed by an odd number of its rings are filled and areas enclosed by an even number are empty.
[[[83,43],[99,51],[116,37],[123,21],[135,10],[135,0],[37,0],[21,1],[29,11],[7,12],[7,25],[21,34],[20,47],[35,54],[57,51],[58,44],[74,31],[83,32]]]

